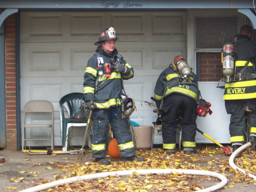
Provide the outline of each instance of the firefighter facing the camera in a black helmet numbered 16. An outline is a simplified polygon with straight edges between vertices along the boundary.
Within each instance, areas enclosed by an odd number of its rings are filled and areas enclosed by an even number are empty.
[[[135,156],[135,147],[128,118],[122,117],[122,80],[134,75],[133,68],[118,54],[115,48],[115,30],[102,30],[96,53],[88,60],[84,74],[84,99],[92,111],[92,156],[96,162],[110,164],[106,157],[106,141],[110,124],[124,161],[144,161]]]

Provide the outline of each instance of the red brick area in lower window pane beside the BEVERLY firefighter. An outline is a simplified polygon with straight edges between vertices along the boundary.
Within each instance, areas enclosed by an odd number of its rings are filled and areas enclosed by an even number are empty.
[[[219,81],[223,77],[220,53],[200,53],[200,77],[200,81]]]

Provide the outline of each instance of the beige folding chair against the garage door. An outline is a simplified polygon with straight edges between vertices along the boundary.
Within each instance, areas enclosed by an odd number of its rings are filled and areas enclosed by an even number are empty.
[[[50,140],[51,149],[54,150],[54,125],[53,125],[53,106],[50,101],[46,100],[32,100],[25,104],[24,106],[24,119],[23,119],[23,131],[22,131],[22,152],[24,147],[26,148],[27,140]],[[46,114],[47,116],[40,116],[40,114]],[[44,122],[47,122],[44,123]],[[50,129],[51,128],[51,137],[34,137],[32,132],[30,132],[29,138],[26,136],[26,129]],[[38,131],[37,133],[40,133]]]

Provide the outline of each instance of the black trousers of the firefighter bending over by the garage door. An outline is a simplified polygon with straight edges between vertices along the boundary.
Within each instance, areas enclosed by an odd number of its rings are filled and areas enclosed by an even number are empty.
[[[182,113],[182,119],[179,120],[182,127],[182,145],[186,147],[196,147],[196,117],[197,103],[194,99],[173,93],[167,96],[163,104],[162,116],[162,136],[163,148],[175,149],[176,147],[176,129],[177,115]]]

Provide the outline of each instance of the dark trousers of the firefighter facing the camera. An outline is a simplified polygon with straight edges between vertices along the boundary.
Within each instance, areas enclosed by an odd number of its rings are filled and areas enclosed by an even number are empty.
[[[113,115],[114,114],[114,115]],[[121,157],[135,156],[135,147],[132,141],[132,133],[127,118],[122,118],[121,107],[110,109],[95,109],[92,111],[92,157],[106,157],[106,142],[108,138],[108,126],[118,142]]]

